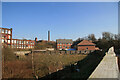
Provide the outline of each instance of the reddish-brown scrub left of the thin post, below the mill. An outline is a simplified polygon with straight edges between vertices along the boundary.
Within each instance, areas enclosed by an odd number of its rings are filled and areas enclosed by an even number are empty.
[[[31,78],[33,77],[30,57],[19,59],[11,48],[2,49],[3,78]]]

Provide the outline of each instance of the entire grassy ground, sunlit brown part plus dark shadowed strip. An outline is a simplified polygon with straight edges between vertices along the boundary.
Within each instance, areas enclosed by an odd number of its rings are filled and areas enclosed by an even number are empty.
[[[34,53],[34,74],[32,74],[32,54],[18,59],[12,49],[4,49],[2,52],[5,57],[4,78],[34,78],[37,75],[45,80],[87,79],[104,56],[104,52],[100,51],[88,55]],[[78,64],[74,65],[76,62]]]

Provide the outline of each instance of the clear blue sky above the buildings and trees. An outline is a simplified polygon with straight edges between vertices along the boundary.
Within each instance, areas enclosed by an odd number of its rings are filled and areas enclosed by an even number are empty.
[[[14,39],[73,39],[118,33],[117,2],[3,2],[2,27]]]

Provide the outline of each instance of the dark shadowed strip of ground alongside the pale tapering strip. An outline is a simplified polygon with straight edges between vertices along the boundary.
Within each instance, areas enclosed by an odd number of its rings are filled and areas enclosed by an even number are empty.
[[[69,64],[63,70],[42,77],[40,80],[87,80],[102,60],[104,53],[104,51],[90,53],[84,59],[76,62],[77,65]]]

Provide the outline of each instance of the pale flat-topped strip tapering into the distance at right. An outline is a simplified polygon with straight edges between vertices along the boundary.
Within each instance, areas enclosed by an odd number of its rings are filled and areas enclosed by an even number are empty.
[[[106,55],[103,57],[100,64],[90,75],[89,79],[119,79],[119,69],[117,63],[117,57],[114,53],[114,48],[111,47]]]

